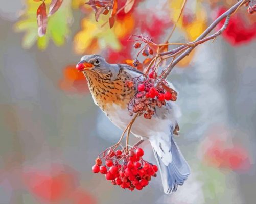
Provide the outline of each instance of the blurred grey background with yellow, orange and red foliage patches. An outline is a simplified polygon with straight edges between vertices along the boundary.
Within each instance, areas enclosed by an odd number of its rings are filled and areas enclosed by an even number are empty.
[[[75,66],[96,53],[127,63],[136,55],[127,41],[132,34],[165,42],[182,1],[136,0],[131,11],[117,14],[112,29],[101,27],[107,18],[97,23],[84,3],[63,1],[38,37],[41,2],[0,1],[0,203],[254,203],[256,15],[241,7],[223,36],[199,45],[170,75],[182,111],[176,141],[192,173],[165,195],[159,175],[130,192],[91,172],[122,131],[94,104]],[[234,3],[188,1],[170,42],[195,40]],[[150,145],[143,148],[145,159],[156,163]]]

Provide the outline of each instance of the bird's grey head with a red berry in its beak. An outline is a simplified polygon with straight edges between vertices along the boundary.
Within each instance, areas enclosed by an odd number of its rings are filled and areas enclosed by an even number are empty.
[[[77,64],[78,71],[93,70],[101,73],[108,73],[110,71],[110,64],[100,55],[85,55]]]

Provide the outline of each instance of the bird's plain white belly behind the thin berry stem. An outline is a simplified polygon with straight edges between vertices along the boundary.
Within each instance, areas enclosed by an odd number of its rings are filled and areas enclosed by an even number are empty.
[[[120,129],[124,130],[129,124],[132,118],[129,116],[128,109],[122,109],[120,106],[111,105],[111,112],[108,112],[109,119]],[[139,116],[134,121],[131,132],[137,137],[145,137],[150,139],[157,135],[170,135],[171,128],[175,124],[175,118],[170,115],[166,119],[152,117],[151,119],[145,119]]]

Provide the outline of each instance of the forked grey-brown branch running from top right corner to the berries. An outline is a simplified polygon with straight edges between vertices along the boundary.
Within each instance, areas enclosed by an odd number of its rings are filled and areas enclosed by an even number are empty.
[[[167,76],[170,74],[170,72],[172,71],[173,67],[179,62],[181,61],[184,57],[186,57],[187,55],[190,54],[190,52],[198,45],[201,44],[205,41],[208,41],[210,39],[214,39],[217,36],[219,36],[227,27],[228,22],[229,22],[229,17],[231,14],[233,14],[237,8],[239,8],[242,4],[245,4],[246,2],[249,2],[249,0],[240,0],[239,2],[237,2],[234,6],[232,6],[230,9],[228,9],[225,13],[223,13],[221,16],[219,16],[194,42],[188,43],[188,44],[194,44],[193,47],[189,47],[187,45],[182,45],[180,47],[177,47],[176,49],[167,51],[165,53],[160,53],[160,56],[163,55],[173,55],[177,52],[179,52],[181,49],[187,47],[188,49],[183,52],[180,56],[178,56],[172,63],[170,63],[166,70],[165,73],[162,75],[161,79],[166,79]],[[216,32],[215,34],[205,38],[223,19],[226,18],[226,21],[224,23],[224,25],[222,26],[222,28]],[[161,80],[160,80],[161,81]]]

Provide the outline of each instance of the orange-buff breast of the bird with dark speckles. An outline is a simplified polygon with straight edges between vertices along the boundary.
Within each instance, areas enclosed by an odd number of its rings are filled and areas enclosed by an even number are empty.
[[[115,104],[122,109],[126,109],[129,101],[135,94],[134,88],[125,85],[129,80],[129,74],[120,71],[117,78],[111,80],[112,73],[102,74],[97,71],[86,71],[85,77],[88,80],[88,86],[95,103],[108,114],[111,105]]]

